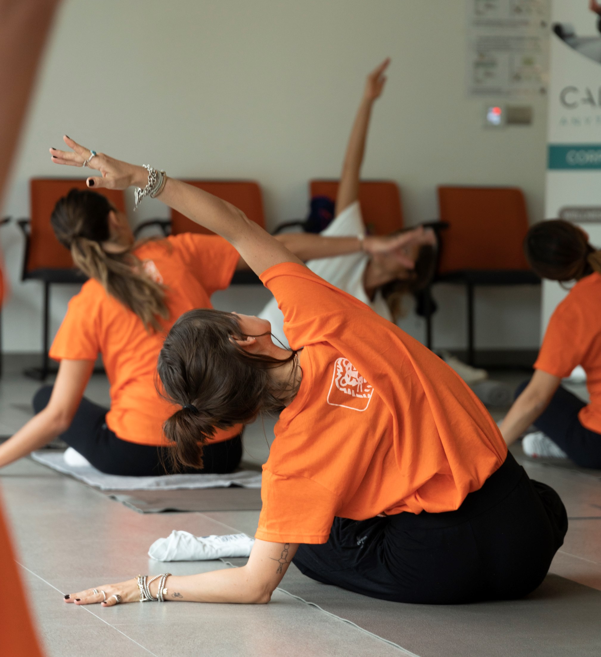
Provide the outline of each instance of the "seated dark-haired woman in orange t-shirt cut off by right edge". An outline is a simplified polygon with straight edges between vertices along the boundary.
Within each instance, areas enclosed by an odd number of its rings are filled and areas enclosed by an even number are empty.
[[[534,424],[542,433],[525,436],[525,453],[601,468],[601,252],[562,219],[533,225],[524,247],[539,276],[575,285],[551,316],[535,373],[518,387],[501,433],[510,445]],[[560,385],[577,365],[587,373],[588,404]]]

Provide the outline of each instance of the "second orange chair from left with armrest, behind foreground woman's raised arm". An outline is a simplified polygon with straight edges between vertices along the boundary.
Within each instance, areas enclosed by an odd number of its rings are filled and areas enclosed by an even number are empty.
[[[261,228],[265,228],[265,213],[263,211],[263,196],[259,183],[251,180],[185,180],[185,183],[194,185],[213,196],[240,208],[244,214]],[[177,210],[171,210],[171,219],[150,219],[139,224],[135,234],[139,235],[143,229],[149,226],[158,226],[165,236],[179,235],[180,233],[202,233],[213,235],[211,231],[194,223]],[[260,281],[252,271],[236,271],[232,279],[233,284],[256,284]]]

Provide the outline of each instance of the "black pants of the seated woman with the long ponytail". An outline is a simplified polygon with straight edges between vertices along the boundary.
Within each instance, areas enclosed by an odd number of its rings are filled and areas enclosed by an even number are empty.
[[[33,397],[35,413],[46,407],[51,393],[52,386],[44,386],[35,393]],[[71,426],[60,435],[60,438],[105,474],[135,477],[169,474],[164,465],[169,463],[168,447],[140,445],[118,438],[106,426],[104,421],[106,413],[108,409],[83,397]],[[223,442],[204,445],[202,458],[204,461],[202,470],[183,468],[179,472],[186,474],[233,472],[242,458],[241,434]]]

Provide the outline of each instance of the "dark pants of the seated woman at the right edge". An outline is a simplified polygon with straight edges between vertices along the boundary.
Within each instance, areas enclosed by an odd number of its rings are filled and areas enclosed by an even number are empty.
[[[525,381],[518,386],[516,397],[528,383]],[[578,413],[586,405],[560,386],[534,426],[545,432],[581,468],[601,468],[601,434],[587,429],[578,419]]]

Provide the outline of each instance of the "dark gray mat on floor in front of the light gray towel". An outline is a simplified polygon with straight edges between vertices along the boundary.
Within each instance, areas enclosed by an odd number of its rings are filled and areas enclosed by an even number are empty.
[[[105,495],[107,493],[108,491],[104,492]],[[111,491],[108,497],[122,502],[126,507],[139,513],[255,511],[261,509],[261,491],[252,488]]]

